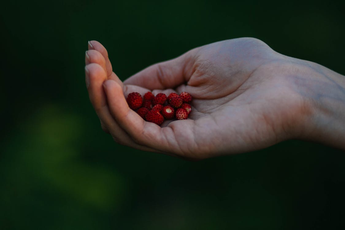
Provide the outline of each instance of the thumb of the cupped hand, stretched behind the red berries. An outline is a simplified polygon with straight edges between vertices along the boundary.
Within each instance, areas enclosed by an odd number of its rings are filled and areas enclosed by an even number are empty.
[[[197,49],[190,50],[175,59],[149,66],[125,80],[124,83],[150,90],[175,88],[189,80]]]

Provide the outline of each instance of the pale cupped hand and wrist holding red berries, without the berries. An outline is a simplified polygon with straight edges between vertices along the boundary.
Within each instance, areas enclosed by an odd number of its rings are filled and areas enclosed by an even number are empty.
[[[97,41],[86,52],[86,84],[104,131],[133,148],[199,160],[287,139],[345,149],[345,77],[284,56],[254,38],[220,41],[154,64],[126,81]],[[129,109],[130,92],[189,92],[188,120],[162,126]]]

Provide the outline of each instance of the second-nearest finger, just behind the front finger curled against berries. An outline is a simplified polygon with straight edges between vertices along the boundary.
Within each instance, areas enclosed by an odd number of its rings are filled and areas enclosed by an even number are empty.
[[[144,151],[157,152],[155,149],[139,146],[134,143],[128,134],[117,124],[114,118],[112,118],[107,106],[106,95],[102,87],[102,83],[107,79],[106,72],[103,68],[99,64],[91,63],[85,67],[85,70],[86,78],[88,79],[87,82],[89,82],[87,83],[87,88],[92,106],[95,108],[101,120],[101,124],[103,123],[103,126],[112,134],[114,140],[120,144]]]

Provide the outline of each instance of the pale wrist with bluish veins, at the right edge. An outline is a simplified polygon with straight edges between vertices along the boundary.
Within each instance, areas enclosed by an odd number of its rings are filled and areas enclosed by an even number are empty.
[[[301,64],[305,71],[295,84],[308,112],[296,137],[345,149],[345,77],[313,62]]]

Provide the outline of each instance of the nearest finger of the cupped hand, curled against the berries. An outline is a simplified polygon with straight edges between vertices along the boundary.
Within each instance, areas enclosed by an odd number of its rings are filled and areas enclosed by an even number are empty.
[[[167,127],[161,129],[157,124],[146,122],[135,111],[131,110],[121,87],[115,81],[105,81],[103,87],[107,94],[111,114],[137,144],[155,148],[165,153],[171,152],[171,149],[167,148],[168,141],[161,133],[161,130]]]

